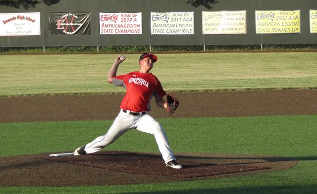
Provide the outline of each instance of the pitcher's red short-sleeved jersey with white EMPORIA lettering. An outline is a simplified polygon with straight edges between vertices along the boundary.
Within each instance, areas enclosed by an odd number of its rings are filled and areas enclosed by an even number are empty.
[[[162,98],[166,95],[159,79],[152,73],[134,71],[113,77],[112,83],[127,90],[120,108],[133,112],[150,111],[151,99],[154,96]]]

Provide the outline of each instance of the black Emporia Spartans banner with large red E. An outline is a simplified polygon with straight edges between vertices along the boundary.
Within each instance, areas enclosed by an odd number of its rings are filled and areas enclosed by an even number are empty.
[[[87,35],[90,31],[90,13],[49,13],[49,35]]]

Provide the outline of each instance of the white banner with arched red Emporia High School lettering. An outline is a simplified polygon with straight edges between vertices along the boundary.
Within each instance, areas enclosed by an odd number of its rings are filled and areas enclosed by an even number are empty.
[[[0,36],[41,35],[40,12],[0,13]]]

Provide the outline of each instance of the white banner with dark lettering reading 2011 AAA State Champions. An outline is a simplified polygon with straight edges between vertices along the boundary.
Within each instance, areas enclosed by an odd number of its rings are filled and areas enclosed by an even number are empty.
[[[194,34],[194,12],[151,12],[151,34]]]

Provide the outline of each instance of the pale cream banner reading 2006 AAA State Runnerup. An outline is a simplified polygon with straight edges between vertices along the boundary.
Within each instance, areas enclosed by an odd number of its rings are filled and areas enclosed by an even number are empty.
[[[203,11],[203,34],[246,34],[247,11]]]

